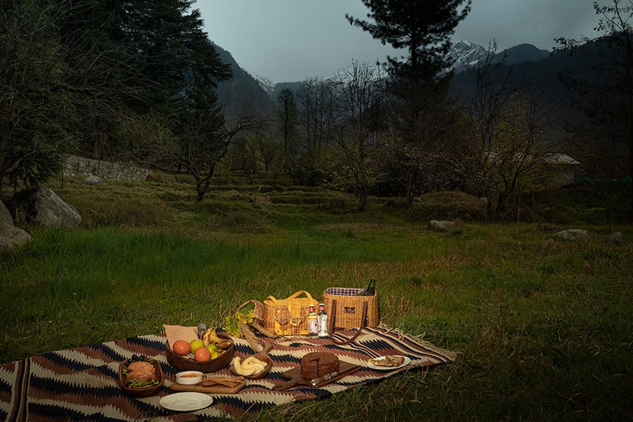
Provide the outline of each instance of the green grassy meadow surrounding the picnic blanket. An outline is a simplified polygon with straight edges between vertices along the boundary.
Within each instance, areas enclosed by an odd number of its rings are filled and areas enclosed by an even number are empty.
[[[84,226],[30,228],[31,243],[0,255],[0,321],[15,327],[0,362],[163,323],[220,324],[245,300],[316,298],[373,276],[383,323],[458,352],[456,362],[245,421],[633,416],[633,248],[602,241],[633,239],[631,226],[465,221],[441,233],[397,201],[372,198],[358,215],[353,197],[321,190],[235,183],[196,203],[193,186],[168,179],[51,187]],[[591,237],[551,241],[563,228]]]

